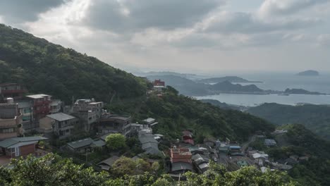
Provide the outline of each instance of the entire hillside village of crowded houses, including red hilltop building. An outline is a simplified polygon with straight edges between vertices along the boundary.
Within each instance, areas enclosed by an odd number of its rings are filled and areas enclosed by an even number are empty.
[[[154,80],[147,97],[154,94],[159,99],[166,89],[165,82]],[[52,99],[47,94],[28,94],[16,83],[0,85],[0,164],[10,166],[11,159],[20,156],[44,156],[51,152],[73,158],[78,163],[93,166],[98,171],[111,171],[121,156],[134,161],[144,159],[150,166],[157,162],[164,172],[176,180],[185,172],[204,173],[210,161],[236,171],[243,166],[256,166],[262,172],[287,171],[308,156],[292,155],[283,161],[274,161],[263,149],[250,147],[259,141],[264,147],[276,145],[276,135],[286,130],[276,130],[271,135],[257,132],[250,140],[239,144],[227,137],[218,140],[204,138],[195,143],[195,135],[182,131],[181,139],[169,140],[164,134],[154,133],[157,118],[145,118],[138,123],[132,116],[118,115],[104,109],[102,100],[73,99],[71,104]],[[126,150],[111,151],[106,138],[121,134],[132,141]],[[110,144],[111,145],[111,144]]]

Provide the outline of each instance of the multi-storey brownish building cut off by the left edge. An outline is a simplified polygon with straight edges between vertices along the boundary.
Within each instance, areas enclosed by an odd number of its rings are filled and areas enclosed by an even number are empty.
[[[22,114],[18,104],[12,98],[6,104],[0,104],[0,140],[23,135]]]

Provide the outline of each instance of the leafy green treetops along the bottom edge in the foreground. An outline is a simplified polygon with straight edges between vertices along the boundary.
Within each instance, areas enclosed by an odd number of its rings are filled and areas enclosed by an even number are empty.
[[[0,185],[5,186],[200,186],[200,185],[296,185],[286,173],[268,171],[261,173],[254,167],[245,167],[235,172],[228,172],[222,166],[211,165],[203,175],[186,173],[186,181],[176,182],[169,175],[157,176],[145,172],[140,175],[124,175],[114,178],[108,173],[98,173],[92,168],[75,165],[71,159],[61,159],[54,154],[42,158],[28,156],[27,159],[13,159],[13,168],[0,168]],[[142,169],[141,169],[142,170]]]

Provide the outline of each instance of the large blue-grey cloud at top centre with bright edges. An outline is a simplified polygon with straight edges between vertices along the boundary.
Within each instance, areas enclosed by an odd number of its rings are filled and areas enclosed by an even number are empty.
[[[173,30],[194,25],[223,4],[224,0],[97,0],[92,1],[83,21],[116,32]]]

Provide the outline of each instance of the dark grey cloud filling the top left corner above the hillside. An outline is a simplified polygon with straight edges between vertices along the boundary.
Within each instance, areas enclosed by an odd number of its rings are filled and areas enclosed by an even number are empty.
[[[0,14],[8,23],[37,20],[39,13],[63,4],[64,0],[9,0],[0,1]]]

